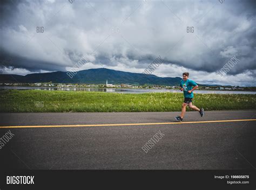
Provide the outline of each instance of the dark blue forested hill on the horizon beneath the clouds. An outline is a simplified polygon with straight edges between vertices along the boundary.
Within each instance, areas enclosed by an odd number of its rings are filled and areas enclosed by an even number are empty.
[[[130,85],[178,85],[181,78],[158,77],[156,75],[146,75],[142,73],[130,73],[116,71],[113,69],[96,68],[77,72],[70,78],[66,72],[33,73],[25,76],[0,74],[0,82],[6,83],[35,83],[35,82],[53,82],[53,83],[86,83],[86,84],[130,84]]]

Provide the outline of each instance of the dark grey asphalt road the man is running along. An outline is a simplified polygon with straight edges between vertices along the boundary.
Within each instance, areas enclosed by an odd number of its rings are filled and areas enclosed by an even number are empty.
[[[0,167],[8,169],[248,169],[256,167],[256,121],[172,123],[179,112],[2,113]],[[255,119],[256,111],[186,112],[184,122]],[[138,125],[139,123],[152,123]],[[158,124],[163,123],[163,124]],[[133,124],[87,126],[95,124]],[[58,125],[58,127],[51,127]],[[59,125],[72,125],[62,127]],[[82,125],[82,126],[73,126]],[[164,134],[146,153],[142,147]]]

